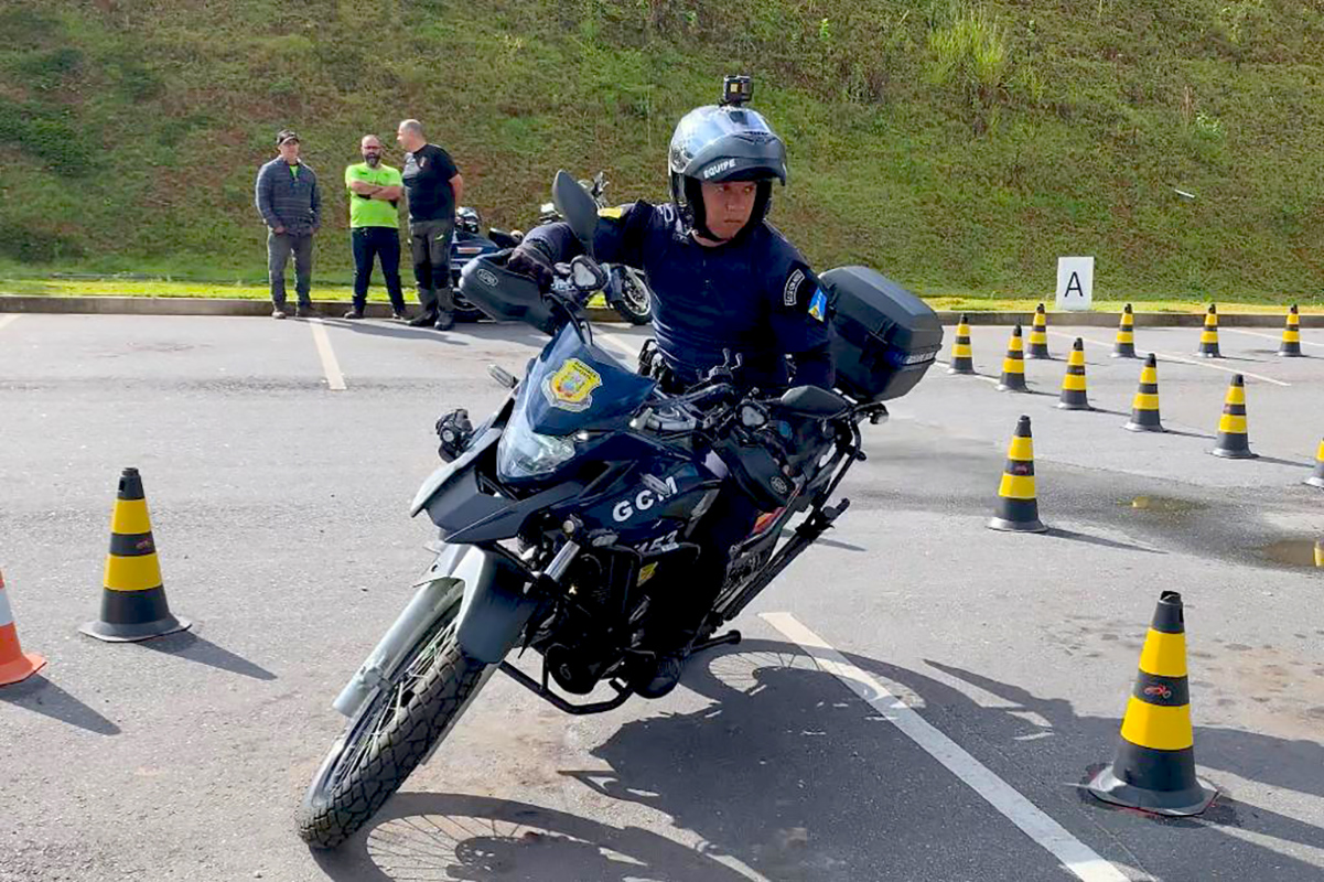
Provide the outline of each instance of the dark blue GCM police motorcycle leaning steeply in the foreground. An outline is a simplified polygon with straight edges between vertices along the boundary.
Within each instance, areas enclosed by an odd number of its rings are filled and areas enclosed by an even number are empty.
[[[469,302],[551,335],[523,379],[493,367],[510,393],[477,429],[463,411],[438,422],[442,458],[412,514],[438,528],[436,559],[404,612],[335,699],[348,718],[314,776],[299,834],[334,848],[368,822],[426,761],[500,670],[568,714],[598,714],[633,694],[654,661],[642,640],[653,580],[703,550],[687,542],[731,482],[764,510],[731,550],[727,579],[687,653],[735,644],[716,632],[847,511],[833,502],[865,460],[861,424],[887,417],[941,347],[928,306],[865,268],[825,273],[816,315],[830,320],[835,391],[739,391],[728,356],[669,393],[593,342],[581,305],[608,285],[592,257],[597,207],[565,172],[553,196],[587,254],[556,268],[552,290],[483,254],[463,270]],[[793,420],[798,441],[784,442]],[[645,632],[641,632],[645,628]],[[540,657],[539,677],[507,658]],[[593,691],[604,701],[576,699]]]

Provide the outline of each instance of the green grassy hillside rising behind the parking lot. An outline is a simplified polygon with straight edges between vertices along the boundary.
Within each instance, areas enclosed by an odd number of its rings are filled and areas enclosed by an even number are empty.
[[[323,277],[343,166],[402,117],[494,222],[527,225],[557,167],[662,199],[671,127],[737,70],[790,147],[775,220],[820,268],[1035,295],[1086,253],[1096,295],[1324,301],[1304,0],[8,0],[0,260],[261,277],[282,126],[324,183]]]

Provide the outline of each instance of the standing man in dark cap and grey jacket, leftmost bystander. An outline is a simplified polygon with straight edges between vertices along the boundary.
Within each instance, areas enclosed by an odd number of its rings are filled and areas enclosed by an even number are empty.
[[[294,254],[295,315],[316,315],[312,287],[312,236],[322,226],[318,176],[299,162],[299,136],[289,128],[275,135],[279,156],[257,172],[257,211],[266,222],[266,270],[271,281],[271,318],[285,318],[285,265]]]

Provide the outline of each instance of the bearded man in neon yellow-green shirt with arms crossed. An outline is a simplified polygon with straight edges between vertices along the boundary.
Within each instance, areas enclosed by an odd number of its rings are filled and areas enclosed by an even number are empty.
[[[344,170],[344,185],[350,188],[350,244],[354,248],[354,309],[347,319],[363,318],[372,279],[372,262],[381,258],[381,274],[387,277],[392,317],[404,322],[405,297],[400,287],[400,215],[397,205],[404,193],[400,170],[381,162],[381,142],[376,135],[364,135],[359,143],[363,162]]]

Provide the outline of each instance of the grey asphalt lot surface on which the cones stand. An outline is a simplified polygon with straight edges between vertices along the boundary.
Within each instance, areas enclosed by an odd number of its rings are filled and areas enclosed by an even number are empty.
[[[666,699],[588,718],[498,674],[369,829],[312,853],[294,810],[340,728],[330,702],[430,559],[408,505],[433,422],[486,415],[487,366],[520,373],[544,338],[3,319],[0,568],[49,665],[0,687],[0,881],[1324,877],[1324,490],[1303,485],[1324,330],[1280,359],[1275,334],[1225,328],[1207,363],[1198,330],[1137,330],[1157,436],[1121,429],[1141,363],[1108,358],[1111,332],[1054,317],[1057,358],[1026,362],[1019,395],[993,383],[1009,328],[974,328],[982,377],[933,368],[866,428],[850,511],[745,612],[740,645]],[[646,338],[600,331],[622,354]],[[1078,334],[1094,412],[1055,407]],[[1206,453],[1234,372],[1258,460]],[[985,528],[1022,413],[1045,535]],[[195,625],[106,645],[77,628],[124,466]],[[1219,789],[1198,818],[1082,788],[1112,759],[1160,591],[1185,599],[1196,759]]]

